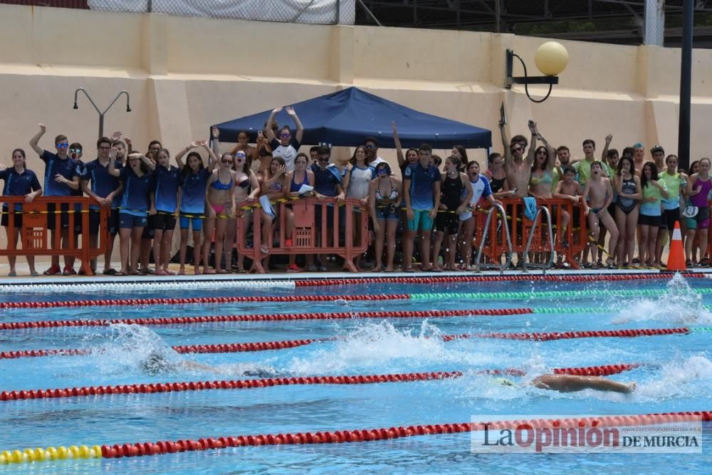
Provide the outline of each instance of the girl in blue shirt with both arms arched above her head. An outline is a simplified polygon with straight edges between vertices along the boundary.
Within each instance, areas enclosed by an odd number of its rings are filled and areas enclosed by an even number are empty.
[[[207,140],[195,140],[184,147],[176,155],[178,168],[181,170],[183,186],[180,197],[180,270],[179,275],[185,273],[185,261],[188,251],[188,230],[193,228],[193,261],[194,272],[200,273],[200,234],[203,230],[205,214],[205,187],[208,178],[215,168],[217,157],[208,147]],[[203,159],[198,152],[189,152],[194,148],[203,147],[208,152],[208,167],[203,165]],[[188,153],[187,164],[183,164],[183,156]]]

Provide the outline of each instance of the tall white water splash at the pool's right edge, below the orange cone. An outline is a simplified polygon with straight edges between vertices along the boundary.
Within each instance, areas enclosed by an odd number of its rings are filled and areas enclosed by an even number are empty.
[[[676,273],[668,282],[667,290],[656,299],[632,301],[620,310],[611,323],[659,321],[674,325],[712,323],[712,313],[702,304],[702,295],[692,290],[689,283]]]

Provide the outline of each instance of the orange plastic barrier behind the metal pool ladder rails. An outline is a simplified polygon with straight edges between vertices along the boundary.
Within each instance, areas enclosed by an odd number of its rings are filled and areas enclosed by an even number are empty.
[[[501,201],[507,213],[507,224],[509,226],[513,252],[523,253],[533,227],[533,221],[525,216],[525,207],[522,199],[502,199]],[[551,214],[551,225],[555,236],[554,251],[563,256],[565,261],[569,263],[572,268],[579,268],[573,257],[582,251],[589,242],[588,226],[583,209],[581,209],[580,205],[572,204],[568,199],[560,198],[538,199],[537,205],[547,208]],[[475,246],[476,249],[482,239],[481,233],[485,228],[487,212],[488,209],[483,209],[477,214],[476,234],[473,242],[473,246]],[[570,216],[570,219],[565,234],[562,236],[565,213]],[[535,226],[529,251],[550,253],[551,246],[548,236],[548,224],[546,224],[543,214],[538,221],[539,224]],[[502,226],[501,219],[498,216],[496,216],[495,219],[495,216],[493,216],[488,230],[488,237],[483,248],[483,254],[488,257],[490,262],[500,263],[501,256],[508,251],[506,229]]]

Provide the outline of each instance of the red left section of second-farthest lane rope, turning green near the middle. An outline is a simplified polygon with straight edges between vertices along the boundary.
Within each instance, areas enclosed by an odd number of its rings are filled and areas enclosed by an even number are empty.
[[[0,302],[0,308],[58,308],[137,305],[184,305],[187,303],[234,302],[332,302],[407,300],[409,293],[392,293],[379,296],[262,296],[262,297],[194,297],[194,298],[122,298],[116,300],[83,300],[66,302]]]

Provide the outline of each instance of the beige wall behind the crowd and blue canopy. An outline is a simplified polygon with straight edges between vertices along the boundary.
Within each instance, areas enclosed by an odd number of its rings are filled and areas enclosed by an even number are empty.
[[[535,104],[523,88],[503,88],[504,51],[513,48],[535,70],[533,55],[544,41],[0,5],[0,162],[9,164],[14,147],[29,150],[37,122],[48,126],[44,147],[65,133],[92,150],[98,118],[83,97],[72,110],[79,87],[100,108],[120,90],[130,92],[133,112],[125,113],[121,99],[106,117],[105,132],[125,132],[140,150],[154,138],[177,150],[206,137],[211,124],[356,85],[493,128],[495,150],[501,149],[496,122],[504,102],[510,135],[524,133],[533,118],[550,142],[569,145],[575,156],[584,138],[602,142],[609,132],[619,149],[640,141],[676,152],[679,50],[562,41],[569,66],[551,97]],[[694,51],[693,68],[692,156],[698,158],[707,153],[712,117],[712,51]],[[515,65],[515,75],[521,73]],[[485,157],[482,150],[470,155]],[[29,165],[43,170],[36,157]]]

